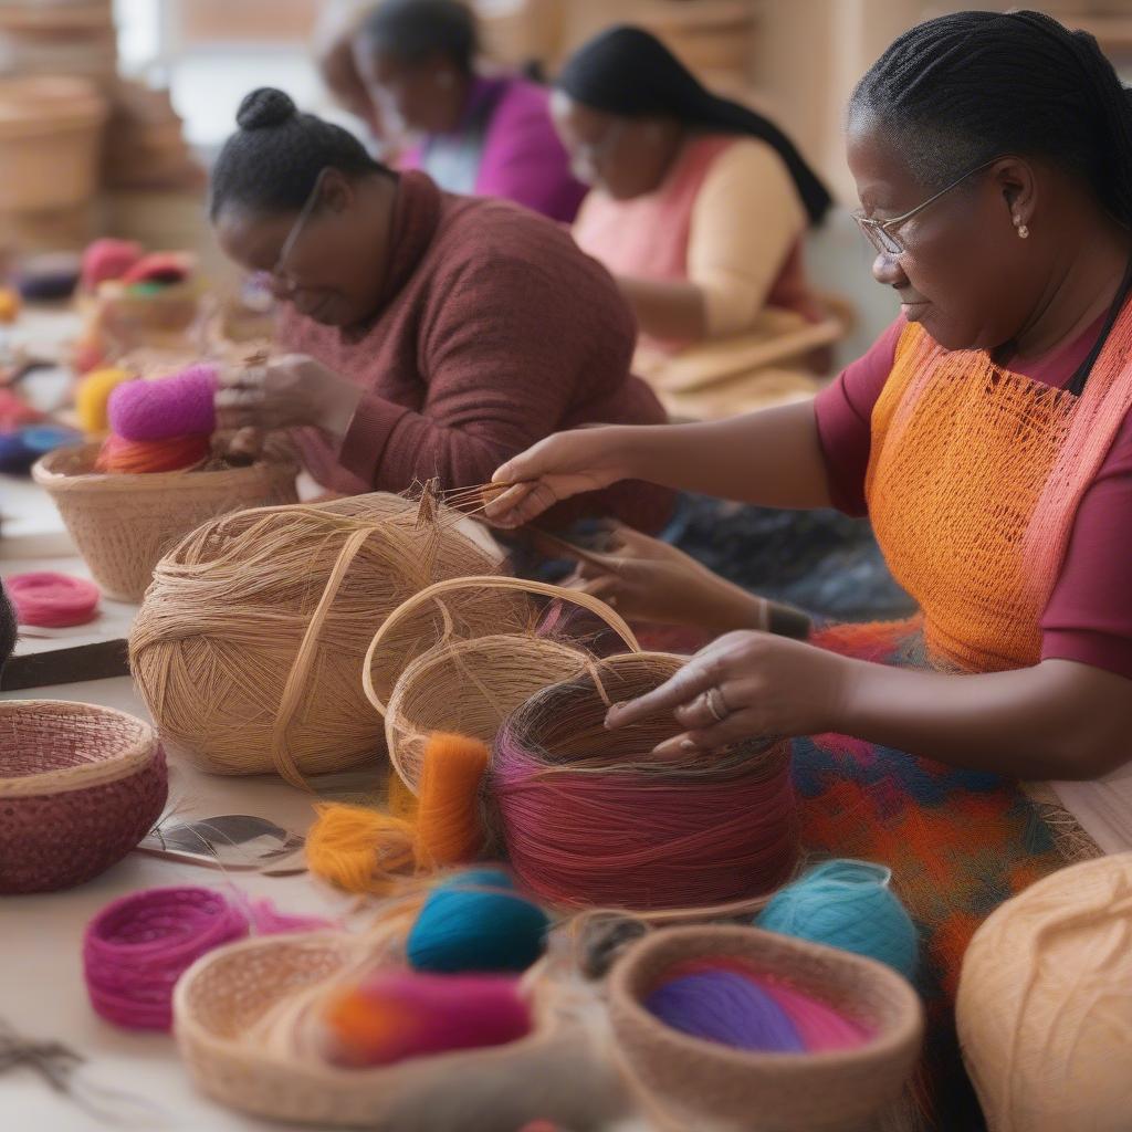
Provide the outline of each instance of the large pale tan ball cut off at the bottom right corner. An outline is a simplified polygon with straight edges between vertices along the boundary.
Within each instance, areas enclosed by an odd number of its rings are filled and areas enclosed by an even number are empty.
[[[993,1132],[1126,1132],[1132,852],[1063,868],[997,908],[967,949],[957,1020]]]

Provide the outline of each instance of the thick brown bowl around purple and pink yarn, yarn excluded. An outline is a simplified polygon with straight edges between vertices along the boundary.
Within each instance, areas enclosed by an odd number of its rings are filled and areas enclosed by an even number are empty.
[[[744,960],[868,1027],[855,1049],[753,1053],[681,1034],[643,1000],[674,964]],[[632,944],[608,985],[614,1032],[636,1083],[680,1127],[715,1122],[751,1132],[858,1132],[901,1094],[916,1067],[923,1009],[895,971],[849,952],[754,927],[677,927]]]

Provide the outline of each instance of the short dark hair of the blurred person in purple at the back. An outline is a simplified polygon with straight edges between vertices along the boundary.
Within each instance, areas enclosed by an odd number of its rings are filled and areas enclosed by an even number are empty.
[[[444,55],[465,74],[480,49],[475,15],[458,0],[385,0],[362,20],[359,36],[406,63]]]

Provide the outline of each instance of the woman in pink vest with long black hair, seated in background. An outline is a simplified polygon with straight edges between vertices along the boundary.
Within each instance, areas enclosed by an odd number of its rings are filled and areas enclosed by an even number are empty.
[[[551,100],[574,173],[574,223],[669,349],[751,329],[764,307],[817,319],[801,237],[830,195],[782,131],[715,97],[648,32],[615,27],[566,63]]]

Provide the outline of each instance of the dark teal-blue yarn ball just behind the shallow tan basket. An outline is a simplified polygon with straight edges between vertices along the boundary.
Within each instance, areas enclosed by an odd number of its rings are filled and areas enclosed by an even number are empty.
[[[514,891],[497,869],[471,869],[424,901],[409,933],[409,963],[419,971],[525,971],[543,952],[547,914]]]

